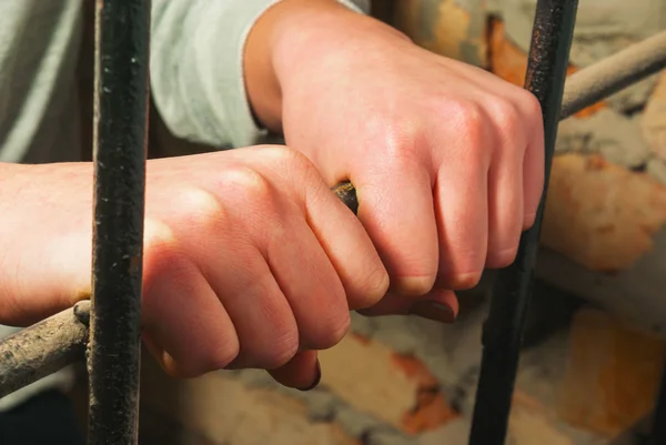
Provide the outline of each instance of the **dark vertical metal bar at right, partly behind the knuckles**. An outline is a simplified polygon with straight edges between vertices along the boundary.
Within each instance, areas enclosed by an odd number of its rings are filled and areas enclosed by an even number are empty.
[[[536,222],[523,233],[516,261],[501,271],[495,283],[483,332],[471,445],[501,445],[506,437],[577,4],[577,0],[538,0],[536,4],[525,88],[542,107],[545,186]]]

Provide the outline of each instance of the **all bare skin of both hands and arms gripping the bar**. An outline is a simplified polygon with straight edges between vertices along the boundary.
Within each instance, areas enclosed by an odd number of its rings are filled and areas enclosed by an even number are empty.
[[[452,322],[454,291],[513,261],[543,190],[533,95],[334,0],[270,8],[244,72],[289,148],[148,162],[143,331],[167,372],[307,388],[350,310]],[[359,218],[330,191],[345,179]],[[92,165],[0,181],[0,323],[24,325],[90,293]]]

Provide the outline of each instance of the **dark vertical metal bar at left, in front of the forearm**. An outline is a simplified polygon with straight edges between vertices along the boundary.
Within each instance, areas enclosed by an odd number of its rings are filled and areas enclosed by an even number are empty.
[[[149,0],[97,0],[89,445],[137,444]]]

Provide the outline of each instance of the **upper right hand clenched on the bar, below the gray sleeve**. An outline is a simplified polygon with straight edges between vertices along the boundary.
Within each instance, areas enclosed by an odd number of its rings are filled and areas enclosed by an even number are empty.
[[[534,222],[544,181],[539,104],[334,1],[304,3],[291,0],[291,13],[274,19],[280,114],[259,103],[258,117],[280,123],[329,184],[354,183],[393,293],[452,304],[445,290],[511,264]],[[374,313],[410,307],[398,300]]]

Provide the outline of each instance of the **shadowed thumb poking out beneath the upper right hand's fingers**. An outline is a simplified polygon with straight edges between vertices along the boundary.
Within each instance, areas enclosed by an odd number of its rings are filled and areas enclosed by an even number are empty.
[[[458,313],[458,301],[453,291],[433,289],[417,299],[387,294],[373,307],[357,311],[365,316],[416,315],[442,323],[453,323]]]

